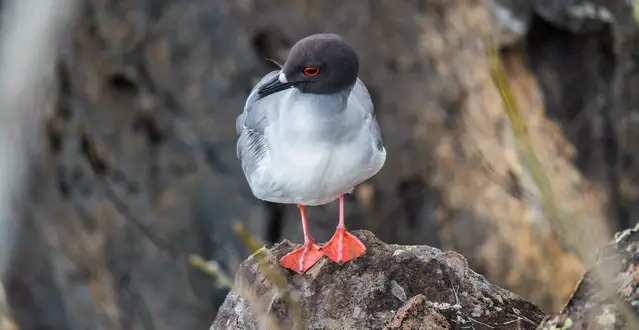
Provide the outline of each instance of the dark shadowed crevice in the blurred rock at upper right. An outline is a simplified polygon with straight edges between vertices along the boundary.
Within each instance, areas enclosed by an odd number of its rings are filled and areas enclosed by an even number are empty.
[[[615,91],[617,59],[613,28],[574,33],[534,17],[525,52],[543,94],[546,115],[577,149],[574,165],[589,180],[608,187],[610,223],[632,225],[620,188],[619,108]]]

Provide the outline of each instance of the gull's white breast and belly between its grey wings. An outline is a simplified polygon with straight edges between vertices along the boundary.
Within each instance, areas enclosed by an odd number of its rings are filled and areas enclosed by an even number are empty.
[[[318,105],[344,107],[345,102],[296,93],[286,93],[281,104],[288,106],[265,131],[270,157],[252,175],[251,186],[272,202],[325,204],[379,171],[385,152],[371,141],[366,113],[327,110]]]

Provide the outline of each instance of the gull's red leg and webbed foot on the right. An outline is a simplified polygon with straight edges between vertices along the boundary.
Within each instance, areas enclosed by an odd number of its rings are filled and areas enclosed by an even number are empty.
[[[335,234],[321,250],[325,256],[340,264],[366,254],[364,243],[349,233],[344,225],[344,195],[339,197],[339,224]]]

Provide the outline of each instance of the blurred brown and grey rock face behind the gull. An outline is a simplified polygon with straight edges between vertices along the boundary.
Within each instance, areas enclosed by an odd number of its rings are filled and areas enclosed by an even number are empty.
[[[583,265],[535,229],[546,220],[482,38],[500,42],[558,204],[614,232],[638,211],[632,14],[629,1],[604,0],[81,1],[5,281],[13,317],[20,329],[207,328],[226,291],[134,221],[229,272],[247,253],[233,221],[266,242],[301,242],[294,206],[252,196],[234,124],[272,69],[264,58],[318,32],[358,50],[388,150],[348,198],[347,226],[455,250],[558,311]],[[309,217],[325,241],[337,205]]]

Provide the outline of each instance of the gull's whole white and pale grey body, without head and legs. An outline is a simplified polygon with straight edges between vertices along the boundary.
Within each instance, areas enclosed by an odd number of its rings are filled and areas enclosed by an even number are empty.
[[[265,116],[267,123],[261,154],[246,152],[246,139],[238,141],[238,155],[244,150],[240,159],[255,196],[321,205],[375,175],[384,165],[386,150],[378,149],[381,136],[373,110],[359,79],[352,92],[318,95],[291,88],[247,102],[238,120],[251,123],[259,121],[251,116]],[[242,130],[251,128],[243,125]]]

